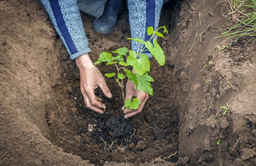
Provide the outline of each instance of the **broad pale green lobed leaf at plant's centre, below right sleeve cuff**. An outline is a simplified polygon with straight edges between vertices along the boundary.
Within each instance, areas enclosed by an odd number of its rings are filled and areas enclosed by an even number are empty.
[[[150,71],[150,62],[146,54],[141,54],[137,59],[135,51],[129,51],[127,57],[127,64],[133,66],[133,69],[139,74],[143,75],[145,72]]]

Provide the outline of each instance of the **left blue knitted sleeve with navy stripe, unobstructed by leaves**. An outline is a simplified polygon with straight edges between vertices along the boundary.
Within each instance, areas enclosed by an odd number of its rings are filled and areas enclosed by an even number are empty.
[[[76,0],[41,0],[73,60],[91,51]]]

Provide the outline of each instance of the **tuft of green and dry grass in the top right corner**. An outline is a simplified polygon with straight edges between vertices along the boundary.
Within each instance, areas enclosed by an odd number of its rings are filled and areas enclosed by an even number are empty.
[[[246,46],[256,39],[256,0],[231,0],[230,8],[231,11],[227,15],[231,16],[236,24],[219,37],[234,39],[233,43],[236,43],[240,37],[248,36]],[[248,10],[251,12],[246,12]]]

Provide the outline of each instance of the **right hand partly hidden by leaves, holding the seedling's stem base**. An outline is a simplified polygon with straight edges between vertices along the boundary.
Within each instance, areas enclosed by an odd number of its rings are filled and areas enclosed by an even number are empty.
[[[135,73],[135,70],[132,70]],[[129,79],[126,83],[126,90],[125,90],[125,100],[129,99],[132,100],[132,98],[137,97],[140,100],[140,105],[139,108],[134,110],[134,109],[124,109],[124,113],[126,114],[124,118],[132,117],[133,115],[136,115],[140,113],[145,105],[145,102],[148,100],[148,94],[146,92],[141,92],[137,90],[136,85],[131,82]]]

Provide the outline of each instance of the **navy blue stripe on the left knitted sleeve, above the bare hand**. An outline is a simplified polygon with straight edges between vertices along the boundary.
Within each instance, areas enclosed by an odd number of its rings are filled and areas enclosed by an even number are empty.
[[[60,33],[62,34],[71,55],[77,53],[78,51],[76,49],[76,46],[68,32],[68,27],[66,26],[66,23],[64,21],[64,18],[63,18],[61,9],[60,9],[59,1],[58,0],[50,0],[49,2],[51,5],[52,12],[55,17],[57,26],[60,29]]]

